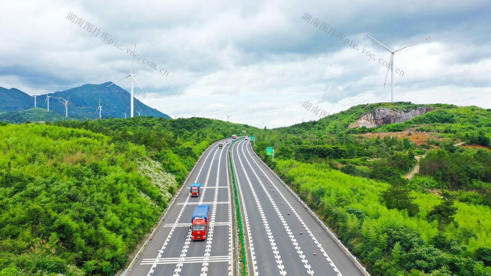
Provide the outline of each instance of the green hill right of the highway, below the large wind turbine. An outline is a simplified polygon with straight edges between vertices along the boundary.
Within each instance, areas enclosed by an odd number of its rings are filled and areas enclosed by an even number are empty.
[[[418,107],[428,112],[353,127]],[[375,103],[267,130],[254,150],[372,275],[491,275],[490,133],[490,109]]]

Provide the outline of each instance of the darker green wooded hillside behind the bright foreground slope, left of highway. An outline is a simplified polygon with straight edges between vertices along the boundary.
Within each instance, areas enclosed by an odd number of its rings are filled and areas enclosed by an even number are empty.
[[[238,125],[205,118],[168,120],[138,116],[129,119],[97,121],[58,121],[55,125],[82,128],[111,137],[116,147],[131,142],[144,145],[148,155],[163,164],[167,173],[182,183],[199,155],[219,139],[246,130],[258,131],[249,125]],[[121,149],[125,151],[126,149]]]

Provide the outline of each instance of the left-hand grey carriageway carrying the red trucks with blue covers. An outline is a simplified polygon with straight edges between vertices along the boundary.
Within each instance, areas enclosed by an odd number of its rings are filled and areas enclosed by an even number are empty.
[[[235,275],[227,148],[218,149],[215,143],[204,152],[152,240],[126,275]],[[201,183],[199,197],[190,196],[192,183]],[[209,233],[206,240],[192,241],[191,216],[197,204],[210,205]]]

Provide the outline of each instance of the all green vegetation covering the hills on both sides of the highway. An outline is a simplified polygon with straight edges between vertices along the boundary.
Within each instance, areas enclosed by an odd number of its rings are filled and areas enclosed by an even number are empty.
[[[432,104],[404,123],[348,128],[375,108],[419,106],[358,105],[264,130],[143,116],[0,123],[0,275],[114,273],[199,155],[242,130],[372,275],[491,275],[491,110]],[[432,137],[361,136],[401,130]],[[420,172],[407,180],[415,157]]]

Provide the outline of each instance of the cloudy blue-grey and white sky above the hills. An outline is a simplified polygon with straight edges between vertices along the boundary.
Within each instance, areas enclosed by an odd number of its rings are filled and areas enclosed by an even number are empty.
[[[490,14],[489,0],[8,1],[0,86],[39,95],[116,81],[136,43],[143,103],[287,126],[390,101],[390,53],[366,32],[391,50],[431,37],[395,53],[395,101],[491,108]]]

